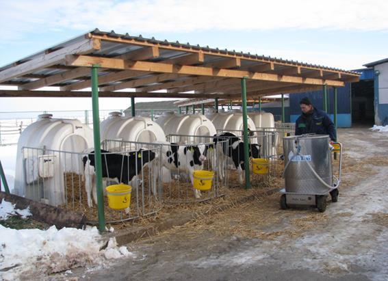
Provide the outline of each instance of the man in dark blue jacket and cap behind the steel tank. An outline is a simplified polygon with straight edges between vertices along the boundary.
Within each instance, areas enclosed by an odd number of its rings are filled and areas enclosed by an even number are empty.
[[[309,98],[302,98],[299,104],[302,114],[296,120],[295,135],[329,135],[331,141],[335,142],[337,133],[330,117],[324,111],[314,108]]]

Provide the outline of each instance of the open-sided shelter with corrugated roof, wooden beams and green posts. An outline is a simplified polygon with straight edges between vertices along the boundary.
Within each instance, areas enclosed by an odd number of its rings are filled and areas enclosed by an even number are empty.
[[[359,81],[357,72],[287,59],[238,53],[155,38],[116,34],[99,29],[0,68],[0,97],[90,97],[93,104],[94,148],[101,157],[99,96],[242,99],[246,155],[246,188],[250,187],[246,99],[270,94],[343,87]],[[89,88],[92,92],[77,91]],[[58,86],[60,91],[38,90]],[[120,92],[134,88],[133,92]],[[166,92],[161,92],[165,90]],[[157,92],[155,92],[157,91]],[[194,92],[193,92],[194,91]],[[98,144],[98,145],[96,145]],[[96,161],[99,227],[103,231],[101,163]]]

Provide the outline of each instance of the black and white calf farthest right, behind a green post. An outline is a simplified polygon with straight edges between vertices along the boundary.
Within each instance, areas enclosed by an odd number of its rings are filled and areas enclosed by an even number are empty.
[[[228,139],[228,143],[225,145],[220,144],[220,142],[225,139]],[[215,135],[213,142],[216,147],[220,178],[223,179],[225,177],[224,170],[227,166],[226,163],[228,159],[231,159],[231,161],[233,161],[233,165],[237,169],[239,183],[242,184],[242,172],[245,170],[244,142],[239,137],[229,132]],[[249,144],[249,157],[260,158],[260,148],[260,144]]]

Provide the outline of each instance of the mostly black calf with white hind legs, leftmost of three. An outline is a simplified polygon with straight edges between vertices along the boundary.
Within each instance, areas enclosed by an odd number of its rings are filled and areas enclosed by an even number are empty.
[[[146,163],[155,159],[155,152],[152,150],[140,149],[137,152],[116,154],[107,150],[101,150],[101,163],[103,178],[110,178],[117,183],[129,185],[135,176],[138,176]],[[96,193],[96,168],[94,151],[82,158],[85,176],[85,189],[88,196],[88,206],[92,206],[92,196],[97,204]]]

